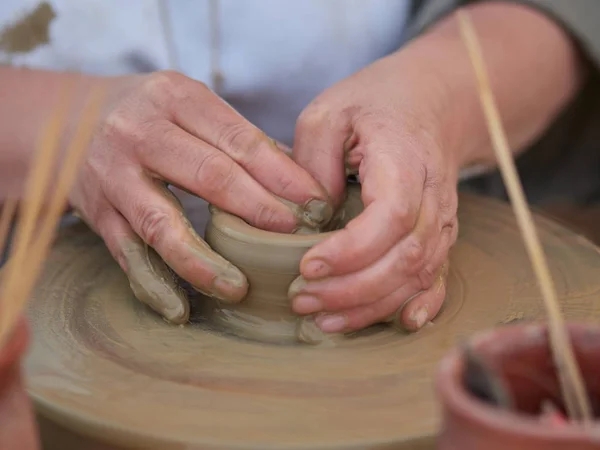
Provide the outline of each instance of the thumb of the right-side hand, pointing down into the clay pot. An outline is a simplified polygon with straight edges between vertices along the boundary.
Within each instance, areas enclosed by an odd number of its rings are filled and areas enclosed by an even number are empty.
[[[344,144],[351,134],[349,116],[332,115],[318,100],[302,112],[296,123],[292,157],[325,187],[335,207],[344,196]]]

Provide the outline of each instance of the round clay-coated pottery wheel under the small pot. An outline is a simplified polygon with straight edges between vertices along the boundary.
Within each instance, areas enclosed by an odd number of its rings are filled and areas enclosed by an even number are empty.
[[[336,348],[246,341],[199,317],[170,326],[133,297],[101,240],[70,226],[29,310],[38,413],[128,448],[415,448],[437,430],[440,357],[473,332],[543,315],[509,207],[462,196],[459,220],[435,325],[374,327]],[[598,251],[536,220],[566,316],[600,317]]]

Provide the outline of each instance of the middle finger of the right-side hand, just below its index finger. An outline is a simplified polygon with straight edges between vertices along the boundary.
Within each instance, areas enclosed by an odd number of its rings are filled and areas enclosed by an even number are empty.
[[[294,311],[312,314],[374,303],[415,276],[418,290],[429,288],[442,262],[432,260],[436,252],[444,251],[441,231],[437,199],[426,193],[417,225],[409,236],[363,270],[305,283],[292,303]],[[441,257],[445,259],[445,254]]]

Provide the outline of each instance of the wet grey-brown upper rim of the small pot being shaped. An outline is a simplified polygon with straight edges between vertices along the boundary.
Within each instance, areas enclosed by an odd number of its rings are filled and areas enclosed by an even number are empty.
[[[214,228],[218,229],[221,233],[231,239],[253,245],[303,248],[316,245],[339,231],[333,230],[315,234],[277,233],[253,227],[243,219],[213,205],[209,206],[209,212],[209,225],[212,224]]]

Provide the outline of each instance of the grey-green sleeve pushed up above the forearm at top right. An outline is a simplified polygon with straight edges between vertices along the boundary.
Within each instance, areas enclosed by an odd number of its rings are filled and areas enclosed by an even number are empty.
[[[423,0],[413,9],[408,39],[416,37],[458,7],[485,0]],[[510,0],[535,8],[569,33],[583,54],[600,69],[600,0]]]

